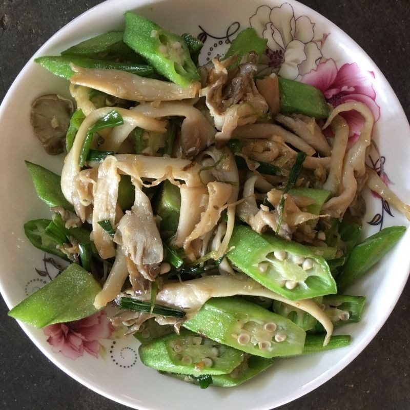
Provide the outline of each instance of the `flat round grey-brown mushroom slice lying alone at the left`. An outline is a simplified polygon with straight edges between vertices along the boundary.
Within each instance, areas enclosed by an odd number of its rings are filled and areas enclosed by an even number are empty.
[[[73,101],[57,94],[42,95],[33,101],[31,125],[47,154],[63,152],[73,112]]]

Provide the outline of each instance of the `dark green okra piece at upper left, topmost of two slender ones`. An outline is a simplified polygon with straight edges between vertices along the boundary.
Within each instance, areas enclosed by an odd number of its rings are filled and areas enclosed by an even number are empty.
[[[70,47],[61,55],[75,54],[95,58],[112,56],[114,59],[119,57],[120,59],[141,62],[142,59],[122,41],[123,36],[124,32],[122,31],[100,34]]]

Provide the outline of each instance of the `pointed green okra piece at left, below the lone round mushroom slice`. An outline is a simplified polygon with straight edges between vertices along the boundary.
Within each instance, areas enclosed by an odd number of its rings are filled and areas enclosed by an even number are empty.
[[[74,211],[71,203],[64,197],[61,191],[61,177],[48,169],[35,163],[24,161],[30,172],[38,197],[47,203],[49,207],[63,207]]]

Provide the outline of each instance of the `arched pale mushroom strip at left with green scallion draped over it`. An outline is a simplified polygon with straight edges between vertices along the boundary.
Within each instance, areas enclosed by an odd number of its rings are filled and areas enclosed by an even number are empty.
[[[116,108],[115,110],[119,112],[122,119],[124,119],[124,122],[138,121],[138,126],[146,130],[155,132],[166,131],[165,122],[163,121],[158,121],[154,118],[149,118],[124,108]],[[104,117],[110,111],[112,111],[112,107],[99,108],[85,118],[77,131],[73,147],[64,160],[63,171],[61,172],[61,190],[70,203],[73,203],[74,179],[81,169],[78,165],[78,158],[87,136],[88,129],[92,127],[98,119]]]

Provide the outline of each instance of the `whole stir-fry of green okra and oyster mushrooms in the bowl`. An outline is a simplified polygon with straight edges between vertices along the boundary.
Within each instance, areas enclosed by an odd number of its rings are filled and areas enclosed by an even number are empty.
[[[198,66],[192,35],[125,20],[36,59],[70,82],[71,98],[40,96],[31,118],[44,149],[67,155],[61,176],[27,162],[52,218],[24,229],[71,264],[10,315],[44,327],[107,308],[144,364],[201,387],[348,345],[333,329],[358,322],[365,298],[344,292],[405,231],[358,243],[363,189],[410,215],[365,166],[372,112],[260,77],[252,28]],[[340,115],[352,110],[355,141]]]

